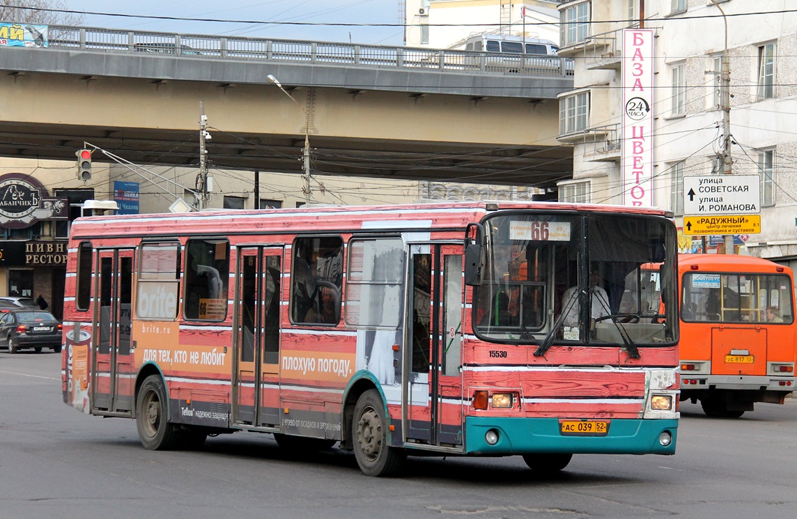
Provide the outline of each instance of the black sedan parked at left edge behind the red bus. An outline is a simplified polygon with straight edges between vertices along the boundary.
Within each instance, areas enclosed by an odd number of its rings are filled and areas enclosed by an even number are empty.
[[[0,317],[0,340],[5,340],[9,353],[23,348],[52,348],[61,351],[61,323],[52,313],[36,309],[18,309]]]

